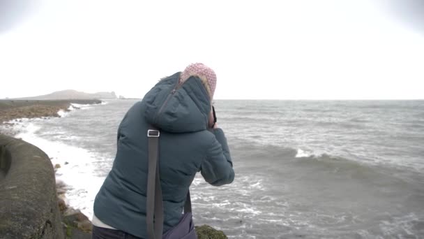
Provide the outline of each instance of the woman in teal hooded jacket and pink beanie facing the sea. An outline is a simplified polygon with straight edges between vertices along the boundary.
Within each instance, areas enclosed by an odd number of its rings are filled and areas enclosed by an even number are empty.
[[[163,78],[123,117],[117,152],[94,201],[93,238],[146,238],[148,138],[160,129],[164,233],[178,224],[197,172],[214,186],[234,180],[224,132],[211,110],[216,75],[204,64]]]

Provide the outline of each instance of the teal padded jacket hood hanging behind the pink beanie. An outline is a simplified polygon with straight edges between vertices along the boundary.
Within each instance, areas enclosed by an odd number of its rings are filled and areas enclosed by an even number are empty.
[[[202,80],[192,76],[180,84],[179,76],[160,80],[144,96],[146,121],[171,133],[207,129],[211,101]]]

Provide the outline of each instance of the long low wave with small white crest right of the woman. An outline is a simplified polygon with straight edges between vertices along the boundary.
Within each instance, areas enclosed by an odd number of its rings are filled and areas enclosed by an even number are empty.
[[[400,175],[398,179],[391,178],[395,184],[402,184],[414,175],[409,168],[394,166],[393,164],[383,164],[377,161],[356,159],[352,157],[342,157],[337,154],[314,152],[308,147],[279,147],[277,145],[249,145],[236,144],[232,146],[232,156],[234,159],[253,164],[260,167],[262,171],[270,173],[286,172],[285,168],[296,168],[299,171],[310,171],[317,175],[330,173],[335,177],[354,178],[377,181],[384,178],[382,175]],[[259,160],[260,159],[260,160]],[[245,166],[239,165],[241,170]],[[250,169],[250,168],[247,168]],[[291,173],[291,172],[287,172]],[[402,176],[401,176],[402,175]],[[406,179],[403,179],[407,177]],[[255,185],[255,183],[251,183]],[[265,184],[262,182],[262,184]],[[266,187],[266,186],[262,186]]]

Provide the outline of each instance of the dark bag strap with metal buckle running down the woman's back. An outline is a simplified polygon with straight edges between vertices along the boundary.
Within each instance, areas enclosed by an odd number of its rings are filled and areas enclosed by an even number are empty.
[[[147,137],[149,138],[149,173],[147,175],[146,201],[146,226],[149,239],[160,239],[163,233],[163,201],[158,160],[159,136],[160,131],[156,127],[150,126],[147,131]],[[190,190],[187,192],[184,205],[184,213],[187,212],[191,212]]]

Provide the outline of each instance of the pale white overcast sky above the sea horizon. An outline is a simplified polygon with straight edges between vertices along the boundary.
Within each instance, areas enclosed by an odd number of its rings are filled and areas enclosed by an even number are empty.
[[[391,2],[0,0],[0,98],[141,98],[202,62],[215,99],[424,99],[424,5]]]

